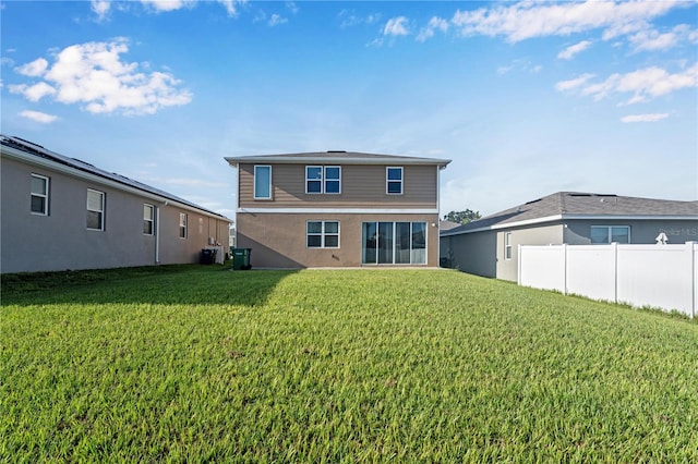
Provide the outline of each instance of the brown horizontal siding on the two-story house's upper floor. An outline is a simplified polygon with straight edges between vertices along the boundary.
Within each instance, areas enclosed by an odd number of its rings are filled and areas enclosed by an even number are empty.
[[[395,166],[399,167],[399,164]],[[402,195],[386,193],[386,167],[344,164],[341,166],[341,194],[306,194],[305,164],[273,164],[272,200],[255,200],[254,164],[240,163],[240,207],[436,208],[438,190],[436,166],[402,166]]]

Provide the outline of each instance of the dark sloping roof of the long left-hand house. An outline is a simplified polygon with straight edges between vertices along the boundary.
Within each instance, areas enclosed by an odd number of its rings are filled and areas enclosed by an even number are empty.
[[[23,151],[25,154],[33,155],[33,156],[36,156],[36,157],[39,157],[39,158],[44,158],[44,159],[48,159],[50,161],[58,162],[60,164],[70,167],[72,169],[75,169],[75,170],[79,170],[79,171],[82,171],[82,172],[86,172],[86,173],[89,173],[89,174],[93,174],[93,175],[97,175],[99,178],[107,179],[109,181],[113,181],[113,182],[117,182],[119,184],[127,185],[129,187],[136,188],[136,190],[140,190],[142,192],[146,192],[146,193],[149,193],[149,194],[153,194],[153,195],[166,198],[166,199],[170,199],[170,200],[180,203],[182,205],[186,205],[186,206],[189,206],[191,208],[198,209],[201,211],[205,211],[205,212],[207,212],[209,215],[218,216],[218,217],[220,217],[222,219],[229,220],[228,218],[226,218],[222,215],[219,215],[219,213],[217,213],[215,211],[210,211],[210,210],[208,210],[206,208],[203,208],[203,207],[201,207],[201,206],[198,206],[198,205],[196,205],[194,203],[191,203],[191,202],[189,202],[189,200],[186,200],[184,198],[180,198],[180,197],[178,197],[176,195],[172,195],[172,194],[167,193],[165,191],[161,191],[159,188],[153,187],[151,185],[143,184],[143,183],[139,182],[139,181],[135,181],[133,179],[127,178],[124,175],[117,174],[116,172],[105,171],[103,169],[96,168],[95,166],[93,166],[93,164],[91,164],[88,162],[82,161],[80,159],[70,158],[68,156],[57,154],[56,151],[48,150],[48,149],[44,148],[40,145],[37,145],[37,144],[32,143],[32,142],[25,141],[23,138],[10,137],[10,136],[0,134],[0,144],[4,145],[7,147],[12,147],[14,149],[21,150],[21,151]]]

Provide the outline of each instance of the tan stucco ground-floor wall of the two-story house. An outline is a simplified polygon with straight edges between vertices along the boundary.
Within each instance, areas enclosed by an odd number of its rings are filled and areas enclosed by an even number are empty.
[[[308,248],[305,246],[305,223],[309,220],[339,221],[339,248]],[[436,213],[308,215],[238,212],[236,224],[238,231],[237,246],[252,248],[250,262],[255,268],[360,267],[362,266],[361,224],[369,221],[426,222],[426,265],[423,266],[438,266],[438,215]]]

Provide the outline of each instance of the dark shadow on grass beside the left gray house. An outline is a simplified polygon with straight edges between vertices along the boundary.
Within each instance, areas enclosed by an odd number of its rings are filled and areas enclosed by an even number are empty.
[[[173,265],[1,277],[1,304],[181,304],[257,306],[293,270],[233,271]]]

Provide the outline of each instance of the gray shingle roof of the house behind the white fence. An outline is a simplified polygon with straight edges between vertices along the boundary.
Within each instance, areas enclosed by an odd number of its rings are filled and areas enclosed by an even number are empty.
[[[698,202],[637,198],[611,194],[557,192],[469,222],[442,235],[456,235],[520,222],[545,222],[585,217],[681,217],[698,220]]]

